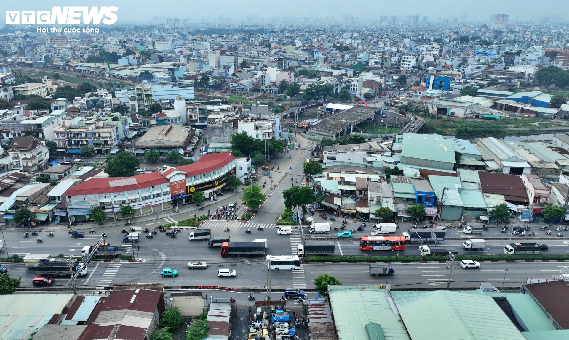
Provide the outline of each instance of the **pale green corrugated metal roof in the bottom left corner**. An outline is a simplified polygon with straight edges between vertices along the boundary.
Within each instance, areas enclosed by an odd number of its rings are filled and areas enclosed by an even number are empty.
[[[29,339],[31,332],[61,314],[72,294],[0,295],[0,339]]]

